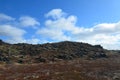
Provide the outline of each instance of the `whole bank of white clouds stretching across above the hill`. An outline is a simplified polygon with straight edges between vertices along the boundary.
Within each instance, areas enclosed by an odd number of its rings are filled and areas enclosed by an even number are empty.
[[[0,15],[0,21],[12,21],[17,23],[0,23],[0,36],[10,37],[8,42],[55,42],[55,41],[79,41],[90,44],[101,44],[106,49],[120,48],[120,22],[101,23],[92,27],[81,27],[77,25],[77,16],[68,15],[62,9],[53,9],[45,14],[46,20],[43,27],[40,22],[30,16],[22,16],[18,19],[5,14]],[[34,27],[37,26],[37,29]],[[25,28],[35,30],[31,36],[25,39],[29,33]],[[19,34],[16,34],[19,33]]]

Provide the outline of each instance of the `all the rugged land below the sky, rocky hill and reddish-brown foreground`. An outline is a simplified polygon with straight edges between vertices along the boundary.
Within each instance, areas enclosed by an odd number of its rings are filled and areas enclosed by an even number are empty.
[[[0,40],[0,80],[120,80],[120,51],[70,41]]]

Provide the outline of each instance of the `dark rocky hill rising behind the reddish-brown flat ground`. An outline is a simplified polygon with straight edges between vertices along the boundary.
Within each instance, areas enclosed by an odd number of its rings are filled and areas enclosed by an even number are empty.
[[[6,63],[39,63],[76,58],[107,58],[107,50],[100,45],[79,42],[58,42],[46,44],[8,44],[0,41],[0,61]]]

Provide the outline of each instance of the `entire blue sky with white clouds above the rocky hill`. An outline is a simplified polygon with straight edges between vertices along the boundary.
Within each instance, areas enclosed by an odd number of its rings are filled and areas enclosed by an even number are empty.
[[[120,0],[0,0],[0,39],[120,48]]]

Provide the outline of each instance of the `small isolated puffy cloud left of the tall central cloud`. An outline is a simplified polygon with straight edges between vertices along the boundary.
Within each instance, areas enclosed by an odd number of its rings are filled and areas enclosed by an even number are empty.
[[[22,16],[20,17],[19,21],[20,24],[24,27],[36,27],[40,25],[40,23],[35,18],[30,16]]]

